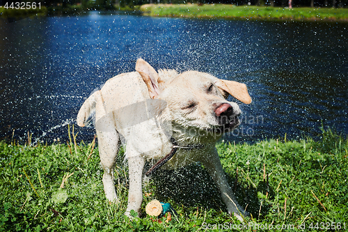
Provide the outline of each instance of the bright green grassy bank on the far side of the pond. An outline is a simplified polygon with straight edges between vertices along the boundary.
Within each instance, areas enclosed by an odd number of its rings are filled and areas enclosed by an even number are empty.
[[[347,8],[278,8],[268,6],[234,6],[213,4],[147,4],[145,15],[158,17],[194,17],[248,20],[348,20]]]

